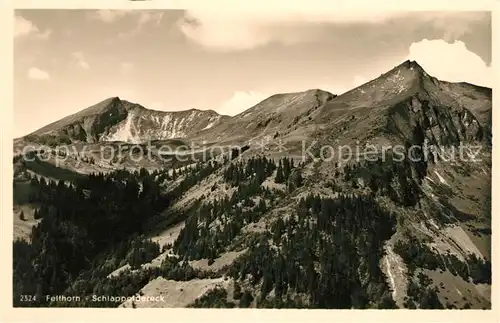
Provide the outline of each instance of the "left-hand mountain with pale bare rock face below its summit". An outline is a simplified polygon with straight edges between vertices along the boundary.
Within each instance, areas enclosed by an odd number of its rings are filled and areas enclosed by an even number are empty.
[[[212,110],[154,111],[114,97],[49,124],[26,139],[44,144],[144,143],[183,138],[209,129],[225,118]]]

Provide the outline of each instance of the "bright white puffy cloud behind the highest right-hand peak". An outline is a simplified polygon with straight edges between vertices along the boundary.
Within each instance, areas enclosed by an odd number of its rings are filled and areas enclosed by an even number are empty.
[[[427,40],[411,44],[408,59],[417,61],[430,75],[448,82],[493,85],[493,70],[461,41]]]

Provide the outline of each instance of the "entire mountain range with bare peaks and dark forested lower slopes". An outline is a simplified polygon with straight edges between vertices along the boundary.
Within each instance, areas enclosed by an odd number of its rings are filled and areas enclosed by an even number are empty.
[[[28,241],[16,248],[64,253],[81,232],[92,243],[78,245],[92,250],[80,262],[50,271],[65,277],[60,286],[22,267],[19,277],[46,284],[18,292],[167,295],[121,307],[490,308],[491,98],[489,88],[441,81],[405,61],[340,95],[276,94],[235,116],[106,99],[14,140],[14,231]],[[198,155],[227,149],[209,161],[161,158],[162,145],[192,143]],[[61,145],[71,148],[64,160]],[[151,154],[107,159],[106,145]],[[34,161],[22,158],[27,146]],[[339,147],[363,149],[363,158],[335,155]],[[139,200],[123,202],[136,201],[126,220],[109,206],[129,190],[118,178],[140,188]],[[73,186],[80,195],[64,193]],[[73,209],[51,190],[74,199]],[[99,203],[109,205],[94,210]],[[77,220],[89,210],[104,222]],[[65,225],[48,226],[58,221]],[[97,223],[130,230],[101,236]],[[43,245],[56,234],[68,237],[64,247]],[[130,279],[133,287],[121,285]]]

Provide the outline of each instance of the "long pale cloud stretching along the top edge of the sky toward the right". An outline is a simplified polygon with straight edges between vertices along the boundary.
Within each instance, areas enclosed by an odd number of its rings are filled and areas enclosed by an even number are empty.
[[[318,33],[325,24],[380,24],[399,19],[416,20],[421,26],[431,25],[446,37],[457,37],[468,31],[471,22],[487,18],[484,12],[407,12],[394,10],[335,10],[323,5],[298,4],[283,8],[242,6],[218,11],[215,8],[187,10],[177,27],[191,41],[217,51],[248,50],[270,43],[295,44],[318,41],[328,33]],[[304,28],[310,27],[310,28]],[[315,29],[316,28],[316,29]]]

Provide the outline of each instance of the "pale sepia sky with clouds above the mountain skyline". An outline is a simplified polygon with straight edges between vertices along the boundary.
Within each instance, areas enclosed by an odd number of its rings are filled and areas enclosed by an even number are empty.
[[[416,60],[491,87],[489,12],[15,11],[14,135],[106,98],[235,115],[284,92],[341,94]]]

